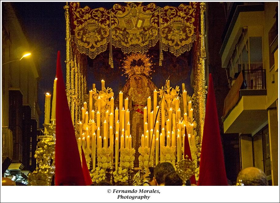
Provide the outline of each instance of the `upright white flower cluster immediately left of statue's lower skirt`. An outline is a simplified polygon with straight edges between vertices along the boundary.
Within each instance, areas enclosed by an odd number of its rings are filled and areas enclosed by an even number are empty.
[[[135,149],[134,148],[121,148],[120,167],[125,169],[132,169],[134,167]]]

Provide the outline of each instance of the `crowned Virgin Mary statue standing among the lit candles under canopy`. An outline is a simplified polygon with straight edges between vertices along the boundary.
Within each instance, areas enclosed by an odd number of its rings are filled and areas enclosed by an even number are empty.
[[[153,91],[158,90],[149,77],[151,65],[151,59],[146,54],[140,53],[127,56],[123,63],[128,80],[122,88],[122,92],[123,98],[128,98],[128,109],[130,110],[132,147],[136,151],[134,167],[138,166],[138,148],[141,145],[141,136],[144,134],[144,107],[147,106],[147,98],[153,97]]]

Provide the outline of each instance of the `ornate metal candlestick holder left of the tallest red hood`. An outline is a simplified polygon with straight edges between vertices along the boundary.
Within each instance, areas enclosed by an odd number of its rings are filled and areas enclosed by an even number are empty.
[[[55,172],[55,122],[43,124],[45,132],[43,136],[38,136],[37,150],[34,158],[37,159],[38,167],[29,174],[29,185],[50,186]]]

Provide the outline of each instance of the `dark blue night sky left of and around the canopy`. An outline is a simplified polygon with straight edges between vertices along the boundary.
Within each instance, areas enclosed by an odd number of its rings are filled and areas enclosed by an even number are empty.
[[[111,8],[116,2],[80,2],[80,7],[89,6],[91,8]],[[125,5],[123,2],[119,4]],[[149,2],[144,2],[146,5]],[[182,2],[156,2],[157,6],[164,7],[179,6]],[[12,2],[15,13],[20,21],[22,30],[29,40],[31,52],[40,71],[40,81],[38,87],[38,103],[41,110],[40,127],[44,121],[45,93],[52,92],[53,79],[56,75],[56,54],[61,52],[61,65],[64,71],[66,65],[66,42],[65,42],[65,17],[63,6],[66,2]],[[155,77],[154,77],[155,78]],[[96,82],[97,88],[99,83]],[[123,81],[124,84],[125,81]],[[161,87],[161,84],[155,84]],[[171,84],[172,85],[172,84]],[[177,84],[180,85],[180,84]],[[100,84],[101,86],[101,84]],[[181,86],[181,85],[180,85]],[[113,88],[113,90],[117,88]],[[114,90],[114,92],[116,92]]]

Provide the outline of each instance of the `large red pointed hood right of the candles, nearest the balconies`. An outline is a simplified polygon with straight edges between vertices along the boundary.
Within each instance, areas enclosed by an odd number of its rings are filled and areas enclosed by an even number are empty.
[[[227,186],[224,152],[211,74],[209,74],[209,87],[200,155],[200,171],[197,185]]]

